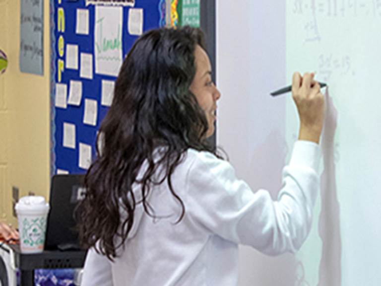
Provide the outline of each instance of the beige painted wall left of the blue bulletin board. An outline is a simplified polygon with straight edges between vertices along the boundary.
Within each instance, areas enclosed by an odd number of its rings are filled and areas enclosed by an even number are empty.
[[[44,76],[20,72],[20,0],[0,0],[0,49],[8,57],[0,75],[0,220],[14,225],[12,186],[20,197],[49,194],[49,41],[49,0],[44,0]]]

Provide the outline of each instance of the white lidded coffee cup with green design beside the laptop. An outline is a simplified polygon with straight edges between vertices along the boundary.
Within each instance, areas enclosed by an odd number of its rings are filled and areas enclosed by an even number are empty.
[[[22,197],[15,207],[18,220],[21,253],[44,251],[49,204],[44,197]]]

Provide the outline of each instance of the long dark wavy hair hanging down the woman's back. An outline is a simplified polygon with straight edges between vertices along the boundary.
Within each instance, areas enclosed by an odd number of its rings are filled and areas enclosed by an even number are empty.
[[[102,147],[97,146],[85,176],[86,195],[76,212],[82,245],[96,246],[110,260],[127,239],[136,204],[153,215],[147,195],[155,184],[167,180],[183,208],[181,221],[185,206],[171,176],[188,148],[215,153],[205,138],[205,113],[190,91],[196,45],[205,47],[197,28],[150,30],[135,42],[119,72],[97,138]],[[164,150],[159,160],[154,158],[158,147]],[[143,162],[147,168],[141,174]],[[153,176],[158,166],[165,171],[160,181]],[[141,201],[135,200],[133,184],[140,186]],[[118,245],[115,237],[121,238]]]

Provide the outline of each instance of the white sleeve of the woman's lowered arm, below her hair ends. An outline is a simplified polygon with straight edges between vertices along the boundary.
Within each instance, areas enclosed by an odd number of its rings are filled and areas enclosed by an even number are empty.
[[[81,286],[113,286],[111,261],[90,248],[87,251]]]

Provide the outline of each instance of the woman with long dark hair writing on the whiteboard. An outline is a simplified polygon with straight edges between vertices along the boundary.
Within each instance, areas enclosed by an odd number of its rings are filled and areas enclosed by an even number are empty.
[[[198,29],[151,30],[131,48],[86,175],[82,286],[233,286],[238,244],[278,255],[306,239],[324,109],[314,75],[293,77],[299,140],[273,201],[206,142],[221,97],[211,72]]]

